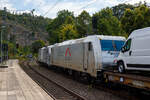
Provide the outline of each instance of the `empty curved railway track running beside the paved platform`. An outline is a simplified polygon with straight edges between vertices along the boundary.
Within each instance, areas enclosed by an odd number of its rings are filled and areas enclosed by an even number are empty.
[[[59,83],[48,79],[44,75],[34,70],[29,63],[22,63],[23,70],[39,84],[54,100],[86,100],[79,94],[65,88]]]

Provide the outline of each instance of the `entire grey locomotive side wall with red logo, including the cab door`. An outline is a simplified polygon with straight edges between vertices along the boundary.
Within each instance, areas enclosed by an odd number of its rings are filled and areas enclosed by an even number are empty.
[[[94,48],[90,42],[53,47],[51,63],[96,77]]]

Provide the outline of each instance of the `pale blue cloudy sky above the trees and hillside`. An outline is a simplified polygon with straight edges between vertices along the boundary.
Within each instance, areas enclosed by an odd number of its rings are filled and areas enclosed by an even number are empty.
[[[60,10],[73,11],[79,15],[86,10],[91,15],[102,8],[112,7],[120,3],[135,4],[138,2],[150,3],[150,0],[0,0],[0,9],[7,7],[11,12],[30,12],[35,9],[35,15],[55,18]]]

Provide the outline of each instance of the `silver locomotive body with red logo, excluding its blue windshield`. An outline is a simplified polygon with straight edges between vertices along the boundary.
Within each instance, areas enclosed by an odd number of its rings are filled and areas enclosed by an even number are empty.
[[[47,63],[97,77],[98,73],[106,68],[106,65],[114,66],[113,59],[118,52],[103,51],[101,40],[125,41],[125,38],[94,35],[57,43],[49,48]]]

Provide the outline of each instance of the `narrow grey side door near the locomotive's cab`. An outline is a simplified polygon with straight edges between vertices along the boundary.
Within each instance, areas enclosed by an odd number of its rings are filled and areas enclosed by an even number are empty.
[[[88,44],[89,43],[84,43],[83,44],[83,69],[86,71],[88,69]]]

